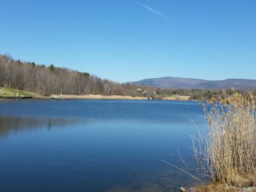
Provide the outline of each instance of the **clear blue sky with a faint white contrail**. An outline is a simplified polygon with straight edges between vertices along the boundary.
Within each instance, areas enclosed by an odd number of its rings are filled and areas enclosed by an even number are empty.
[[[256,79],[256,1],[0,0],[0,54],[97,74]]]

